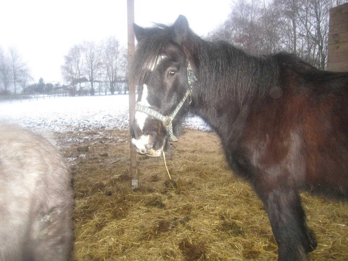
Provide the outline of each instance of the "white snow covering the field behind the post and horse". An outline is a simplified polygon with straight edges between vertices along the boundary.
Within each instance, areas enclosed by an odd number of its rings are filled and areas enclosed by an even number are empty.
[[[128,95],[102,95],[39,98],[0,102],[0,121],[53,132],[90,130],[94,128],[127,129],[129,127]],[[209,127],[199,117],[189,117],[184,126],[199,130]]]

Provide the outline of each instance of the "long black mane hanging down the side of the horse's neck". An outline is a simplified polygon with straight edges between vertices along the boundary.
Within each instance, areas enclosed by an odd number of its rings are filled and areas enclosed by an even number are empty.
[[[202,95],[229,96],[242,103],[246,97],[264,95],[278,81],[279,66],[270,56],[251,56],[224,41],[199,38],[196,46]]]

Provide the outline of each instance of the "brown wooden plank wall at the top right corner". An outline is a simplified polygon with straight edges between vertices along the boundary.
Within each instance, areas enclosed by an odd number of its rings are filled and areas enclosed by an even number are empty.
[[[330,9],[328,71],[348,71],[348,3]]]

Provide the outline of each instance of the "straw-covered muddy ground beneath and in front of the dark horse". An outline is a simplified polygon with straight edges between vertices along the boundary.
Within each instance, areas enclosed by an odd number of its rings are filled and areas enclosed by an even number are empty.
[[[185,130],[167,159],[138,156],[130,189],[128,132],[56,134],[76,190],[74,260],[276,260],[261,201],[231,175],[214,133]],[[348,259],[348,205],[302,193],[318,247],[310,260]]]

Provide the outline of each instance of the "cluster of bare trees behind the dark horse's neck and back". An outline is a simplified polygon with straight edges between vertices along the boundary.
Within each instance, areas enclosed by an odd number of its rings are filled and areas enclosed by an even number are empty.
[[[325,69],[329,10],[345,0],[261,1],[234,2],[228,19],[208,38],[229,41],[255,55],[295,53]]]

